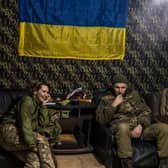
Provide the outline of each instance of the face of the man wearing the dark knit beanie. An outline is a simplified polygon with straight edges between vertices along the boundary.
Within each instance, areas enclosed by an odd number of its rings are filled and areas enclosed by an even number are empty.
[[[114,92],[117,95],[124,95],[127,90],[127,84],[126,83],[115,83],[113,86]]]

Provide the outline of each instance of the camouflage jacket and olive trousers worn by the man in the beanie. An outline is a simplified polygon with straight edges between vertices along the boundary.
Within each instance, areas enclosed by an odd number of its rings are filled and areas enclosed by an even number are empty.
[[[120,158],[132,157],[131,130],[138,124],[144,128],[144,138],[157,138],[160,157],[168,156],[168,126],[163,123],[151,125],[151,110],[136,91],[129,91],[124,101],[112,107],[115,94],[101,98],[96,110],[96,120],[101,124],[109,124],[114,130],[118,155]]]

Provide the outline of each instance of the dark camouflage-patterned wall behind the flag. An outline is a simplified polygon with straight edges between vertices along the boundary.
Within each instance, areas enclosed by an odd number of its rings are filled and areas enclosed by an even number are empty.
[[[54,93],[68,93],[80,86],[92,93],[109,86],[117,72],[126,75],[142,94],[168,87],[167,0],[130,0],[123,61],[19,57],[17,0],[0,3],[0,87],[25,88],[42,80]]]

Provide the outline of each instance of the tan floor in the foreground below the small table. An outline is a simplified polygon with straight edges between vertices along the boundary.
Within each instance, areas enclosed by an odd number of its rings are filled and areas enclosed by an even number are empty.
[[[105,168],[92,153],[56,155],[58,168]]]

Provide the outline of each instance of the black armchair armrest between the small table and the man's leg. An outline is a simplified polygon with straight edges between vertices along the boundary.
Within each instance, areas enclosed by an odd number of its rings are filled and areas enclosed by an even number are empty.
[[[95,121],[91,131],[91,143],[94,147],[96,158],[106,168],[121,167],[119,166],[118,159],[114,155],[116,153],[114,142],[112,129],[107,125],[101,125]]]

